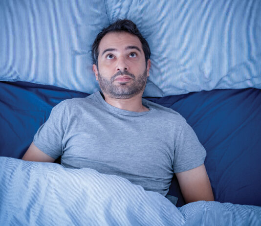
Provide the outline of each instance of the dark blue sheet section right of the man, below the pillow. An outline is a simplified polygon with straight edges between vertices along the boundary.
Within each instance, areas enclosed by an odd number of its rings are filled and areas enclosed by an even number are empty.
[[[216,201],[261,206],[260,90],[211,90],[147,99],[180,113],[193,128],[207,152],[205,166]],[[172,182],[169,194],[180,197],[175,186]]]

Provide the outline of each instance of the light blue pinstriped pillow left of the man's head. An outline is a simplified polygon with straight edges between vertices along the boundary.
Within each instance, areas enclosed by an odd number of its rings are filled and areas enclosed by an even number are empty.
[[[91,45],[108,25],[104,0],[1,0],[0,80],[99,90]]]

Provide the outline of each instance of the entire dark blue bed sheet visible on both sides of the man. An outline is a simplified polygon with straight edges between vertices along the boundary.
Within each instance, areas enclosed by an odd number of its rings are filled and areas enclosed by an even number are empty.
[[[88,94],[31,83],[0,82],[0,156],[22,158],[53,106]],[[261,206],[261,90],[212,90],[147,98],[181,113],[207,151],[218,202]],[[169,194],[184,204],[177,182]]]

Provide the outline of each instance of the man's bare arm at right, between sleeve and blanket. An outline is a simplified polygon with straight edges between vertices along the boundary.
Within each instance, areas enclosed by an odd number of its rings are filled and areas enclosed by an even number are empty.
[[[186,203],[214,201],[214,195],[205,165],[176,173],[176,177]]]

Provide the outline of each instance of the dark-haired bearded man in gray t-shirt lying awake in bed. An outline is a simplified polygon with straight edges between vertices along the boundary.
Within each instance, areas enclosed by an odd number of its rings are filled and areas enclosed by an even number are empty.
[[[166,196],[174,173],[187,203],[213,201],[205,149],[185,119],[142,98],[150,48],[136,25],[118,20],[92,46],[102,92],[55,106],[24,160],[116,174]]]

